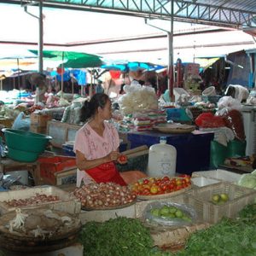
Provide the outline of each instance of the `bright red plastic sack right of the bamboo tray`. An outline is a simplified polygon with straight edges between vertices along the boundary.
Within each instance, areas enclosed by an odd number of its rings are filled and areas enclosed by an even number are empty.
[[[215,116],[213,113],[201,113],[195,119],[195,125],[202,127],[202,128],[218,128],[224,127],[225,122],[224,119],[220,116]]]

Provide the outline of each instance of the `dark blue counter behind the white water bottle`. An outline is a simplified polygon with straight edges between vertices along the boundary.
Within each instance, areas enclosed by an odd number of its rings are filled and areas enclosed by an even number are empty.
[[[193,131],[190,133],[162,133],[156,131],[131,131],[127,139],[131,148],[160,143],[160,137],[166,137],[167,143],[177,149],[176,172],[191,174],[209,169],[210,148],[214,133]]]

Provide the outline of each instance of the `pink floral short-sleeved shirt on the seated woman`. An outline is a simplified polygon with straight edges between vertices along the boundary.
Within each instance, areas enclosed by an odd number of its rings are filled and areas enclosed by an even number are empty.
[[[104,122],[103,136],[99,136],[88,123],[76,133],[73,151],[79,150],[87,160],[94,160],[109,154],[119,148],[119,134],[116,128]]]

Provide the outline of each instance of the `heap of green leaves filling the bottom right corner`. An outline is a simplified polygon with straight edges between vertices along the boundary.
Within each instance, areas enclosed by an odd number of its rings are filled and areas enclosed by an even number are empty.
[[[256,255],[256,204],[245,207],[240,218],[223,218],[207,230],[189,237],[186,248],[176,256]]]

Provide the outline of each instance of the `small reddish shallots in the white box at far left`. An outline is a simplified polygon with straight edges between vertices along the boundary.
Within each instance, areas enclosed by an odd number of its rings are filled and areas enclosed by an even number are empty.
[[[38,205],[44,202],[49,201],[59,201],[60,198],[57,195],[44,195],[44,194],[36,194],[35,196],[26,198],[26,199],[18,199],[18,200],[11,200],[11,201],[4,201],[9,207],[25,207],[31,205]]]

